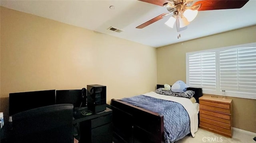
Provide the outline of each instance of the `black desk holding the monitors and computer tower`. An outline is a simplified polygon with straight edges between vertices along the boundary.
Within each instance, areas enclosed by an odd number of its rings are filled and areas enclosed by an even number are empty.
[[[88,116],[75,116],[73,124],[79,124],[79,143],[112,143],[112,110]],[[11,122],[5,122],[1,129],[0,143],[10,143],[12,136]]]

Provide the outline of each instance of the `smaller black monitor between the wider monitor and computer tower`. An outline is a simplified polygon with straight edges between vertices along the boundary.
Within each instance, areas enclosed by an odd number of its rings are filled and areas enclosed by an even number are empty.
[[[86,107],[86,88],[56,90],[56,104],[73,104],[74,109]]]

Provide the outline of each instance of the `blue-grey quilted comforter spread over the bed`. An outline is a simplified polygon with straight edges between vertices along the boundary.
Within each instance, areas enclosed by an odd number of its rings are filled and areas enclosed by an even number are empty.
[[[164,139],[166,143],[178,141],[190,133],[190,119],[188,113],[179,103],[144,95],[122,98],[121,100],[163,115]]]

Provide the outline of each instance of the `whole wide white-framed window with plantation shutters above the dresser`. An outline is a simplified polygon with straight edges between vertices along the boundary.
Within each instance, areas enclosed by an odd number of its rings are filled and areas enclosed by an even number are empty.
[[[256,99],[256,43],[186,53],[186,83],[206,94]]]

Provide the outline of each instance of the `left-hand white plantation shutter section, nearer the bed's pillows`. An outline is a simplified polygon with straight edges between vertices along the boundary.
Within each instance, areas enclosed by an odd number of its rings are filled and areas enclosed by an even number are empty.
[[[189,86],[216,90],[216,54],[199,53],[188,56]]]

